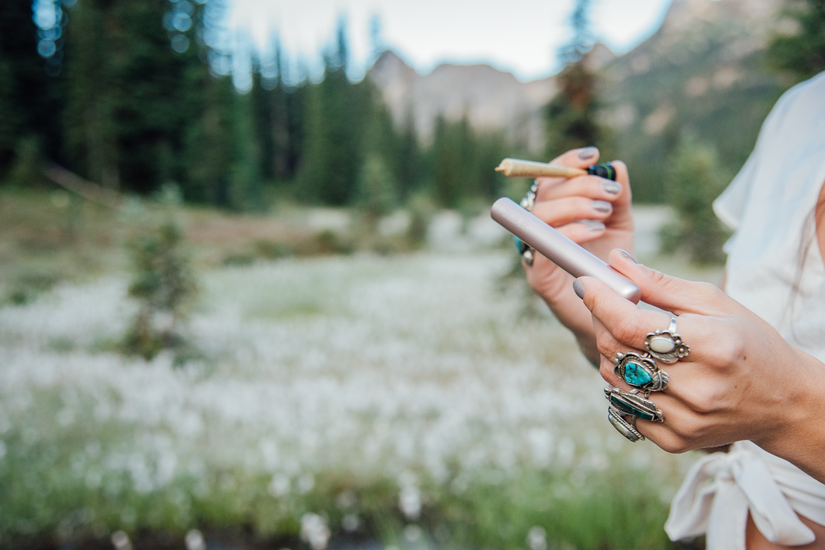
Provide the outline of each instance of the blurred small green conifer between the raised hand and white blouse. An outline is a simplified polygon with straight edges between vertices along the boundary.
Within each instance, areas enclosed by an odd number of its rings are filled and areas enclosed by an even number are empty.
[[[676,148],[665,182],[667,203],[677,219],[662,227],[662,253],[688,254],[700,264],[724,262],[728,231],[713,211],[713,202],[729,181],[710,147],[691,139]]]

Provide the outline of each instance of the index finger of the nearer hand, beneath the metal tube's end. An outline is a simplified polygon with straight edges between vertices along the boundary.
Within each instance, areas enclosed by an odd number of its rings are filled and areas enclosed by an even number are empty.
[[[596,333],[596,346],[602,354],[615,354],[614,340],[643,350],[644,339],[652,328],[667,327],[670,322],[670,317],[661,311],[640,310],[594,277],[579,277],[578,281],[584,287],[584,305],[606,329]]]

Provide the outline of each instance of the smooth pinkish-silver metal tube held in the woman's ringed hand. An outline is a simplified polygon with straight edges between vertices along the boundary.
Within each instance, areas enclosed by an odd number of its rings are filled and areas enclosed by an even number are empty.
[[[533,216],[507,197],[499,198],[490,209],[490,216],[504,229],[516,235],[531,248],[555,263],[573,277],[596,277],[620,296],[638,304],[642,291],[636,283],[581,246]]]

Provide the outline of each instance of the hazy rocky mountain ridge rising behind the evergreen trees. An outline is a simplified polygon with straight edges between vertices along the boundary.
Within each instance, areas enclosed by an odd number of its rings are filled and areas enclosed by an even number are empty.
[[[686,104],[765,86],[752,58],[787,26],[780,7],[781,0],[674,0],[658,31],[629,53],[616,57],[597,44],[590,57],[602,76],[605,122],[619,138],[660,136]],[[444,63],[422,75],[392,51],[368,74],[396,123],[412,121],[425,140],[438,114],[466,115],[475,128],[503,129],[531,151],[543,147],[541,110],[557,91],[554,77],[519,82],[483,64]]]

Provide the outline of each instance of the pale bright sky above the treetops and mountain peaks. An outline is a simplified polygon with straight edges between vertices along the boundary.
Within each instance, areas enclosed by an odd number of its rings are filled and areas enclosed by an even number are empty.
[[[671,0],[593,0],[593,30],[623,54],[658,29]],[[318,76],[322,53],[346,17],[350,76],[373,60],[370,29],[380,44],[418,72],[439,63],[489,63],[527,82],[559,69],[556,50],[569,40],[573,0],[230,0],[229,27],[251,35],[252,48],[271,48],[277,36],[292,72],[299,64]]]

